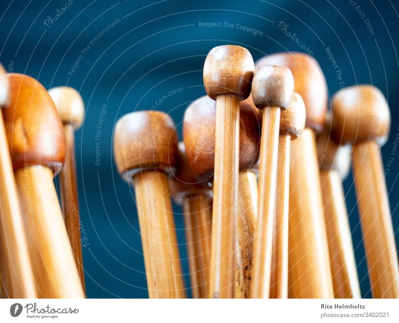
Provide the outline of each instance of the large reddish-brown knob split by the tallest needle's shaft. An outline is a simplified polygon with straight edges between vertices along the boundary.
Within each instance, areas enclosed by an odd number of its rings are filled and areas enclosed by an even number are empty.
[[[183,138],[191,169],[199,181],[211,180],[214,168],[216,103],[208,97],[193,102],[184,114]],[[259,159],[258,113],[248,102],[240,104],[239,168],[256,168]]]

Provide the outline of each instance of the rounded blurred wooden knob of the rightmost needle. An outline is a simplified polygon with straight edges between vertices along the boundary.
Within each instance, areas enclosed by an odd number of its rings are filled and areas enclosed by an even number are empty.
[[[351,86],[337,92],[331,100],[331,110],[332,135],[337,142],[375,140],[383,144],[387,140],[391,113],[376,87]]]

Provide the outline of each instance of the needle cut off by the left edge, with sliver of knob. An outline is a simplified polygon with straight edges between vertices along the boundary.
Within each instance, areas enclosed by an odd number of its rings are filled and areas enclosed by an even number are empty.
[[[1,297],[36,298],[28,245],[9,156],[1,108],[9,103],[6,73],[0,64],[0,230]]]

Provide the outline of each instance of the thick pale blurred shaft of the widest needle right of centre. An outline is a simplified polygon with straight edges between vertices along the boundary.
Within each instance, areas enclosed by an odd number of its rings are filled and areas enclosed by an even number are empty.
[[[333,298],[314,130],[291,143],[289,298]]]

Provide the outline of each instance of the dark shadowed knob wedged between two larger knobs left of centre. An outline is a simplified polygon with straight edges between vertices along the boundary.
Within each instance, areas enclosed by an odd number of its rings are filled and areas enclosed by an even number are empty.
[[[203,183],[199,183],[194,175],[187,160],[186,147],[183,141],[179,142],[176,172],[170,178],[169,188],[172,192],[173,200],[178,204],[188,198],[202,199],[203,195],[211,192],[210,188]]]

